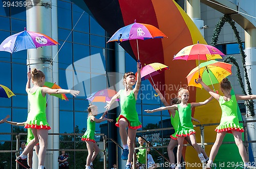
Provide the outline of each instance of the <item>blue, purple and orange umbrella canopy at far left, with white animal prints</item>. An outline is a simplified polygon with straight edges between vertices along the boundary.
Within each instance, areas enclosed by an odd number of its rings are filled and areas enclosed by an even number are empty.
[[[0,45],[0,51],[14,53],[16,51],[32,49],[41,46],[57,45],[58,42],[47,35],[25,31],[7,37]]]

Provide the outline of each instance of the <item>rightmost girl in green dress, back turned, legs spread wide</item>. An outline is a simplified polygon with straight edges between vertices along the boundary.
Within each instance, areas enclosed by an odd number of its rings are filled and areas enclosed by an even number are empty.
[[[218,150],[222,144],[224,136],[226,133],[232,133],[234,136],[234,141],[238,146],[240,155],[244,162],[245,168],[248,166],[249,159],[246,154],[246,150],[242,140],[242,132],[244,129],[242,126],[239,125],[238,120],[238,112],[237,112],[237,100],[252,100],[256,99],[256,95],[231,95],[231,84],[228,78],[224,78],[220,83],[220,89],[224,96],[221,96],[217,93],[214,93],[205,83],[202,81],[201,78],[198,78],[198,82],[203,86],[203,88],[209,92],[209,94],[214,97],[216,100],[219,101],[222,115],[221,115],[221,122],[220,125],[216,127],[215,131],[217,131],[216,141],[211,148],[210,157],[207,165],[205,168],[211,168],[211,164],[218,153]]]

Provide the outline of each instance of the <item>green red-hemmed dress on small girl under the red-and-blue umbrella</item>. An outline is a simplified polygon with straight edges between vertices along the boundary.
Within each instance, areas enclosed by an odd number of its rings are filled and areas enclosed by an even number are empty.
[[[86,132],[83,134],[81,140],[82,141],[90,141],[90,142],[93,142],[95,143],[95,139],[94,139],[94,135],[95,135],[95,121],[91,121],[91,116],[93,115],[90,115],[88,118],[87,118],[87,130]]]

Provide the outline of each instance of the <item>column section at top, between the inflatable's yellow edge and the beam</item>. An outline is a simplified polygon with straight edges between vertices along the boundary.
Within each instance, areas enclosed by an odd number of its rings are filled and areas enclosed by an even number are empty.
[[[200,0],[187,0],[186,12],[197,25],[200,33],[204,36],[204,29],[202,28],[204,26],[204,21],[201,20]]]

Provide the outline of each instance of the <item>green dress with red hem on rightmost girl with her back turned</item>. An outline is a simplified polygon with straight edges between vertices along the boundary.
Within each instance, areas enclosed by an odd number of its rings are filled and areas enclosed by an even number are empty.
[[[229,101],[225,101],[223,96],[220,96],[219,103],[222,115],[220,125],[216,127],[215,131],[227,131],[228,133],[232,133],[232,130],[236,130],[244,132],[243,127],[239,125],[236,95],[231,95],[231,99]]]

